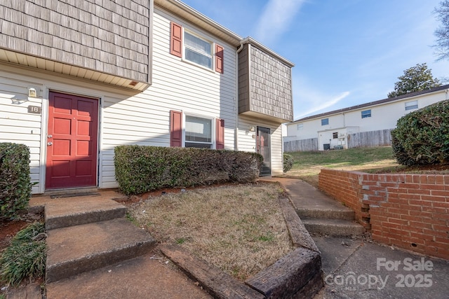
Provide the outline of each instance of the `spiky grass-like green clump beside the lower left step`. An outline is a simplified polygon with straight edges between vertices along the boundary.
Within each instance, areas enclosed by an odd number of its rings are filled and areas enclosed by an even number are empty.
[[[43,277],[45,273],[45,225],[36,222],[20,230],[0,257],[1,280],[16,286],[26,277]]]

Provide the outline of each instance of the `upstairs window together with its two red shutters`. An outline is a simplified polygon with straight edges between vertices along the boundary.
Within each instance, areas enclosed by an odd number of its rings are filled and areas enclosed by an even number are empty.
[[[171,22],[170,54],[223,73],[224,48]],[[214,59],[215,57],[215,59]]]

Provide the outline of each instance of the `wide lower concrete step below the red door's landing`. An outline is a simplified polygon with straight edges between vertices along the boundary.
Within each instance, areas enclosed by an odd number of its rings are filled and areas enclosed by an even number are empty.
[[[56,228],[47,235],[47,283],[145,255],[156,245],[126,218]]]

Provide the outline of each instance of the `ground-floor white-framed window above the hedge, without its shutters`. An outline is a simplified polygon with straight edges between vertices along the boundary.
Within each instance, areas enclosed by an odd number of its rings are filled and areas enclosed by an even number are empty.
[[[185,116],[185,147],[213,148],[213,119]]]

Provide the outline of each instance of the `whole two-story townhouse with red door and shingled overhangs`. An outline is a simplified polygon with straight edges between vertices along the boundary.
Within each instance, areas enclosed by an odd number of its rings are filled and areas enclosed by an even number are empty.
[[[115,188],[114,147],[264,155],[283,172],[293,64],[177,0],[0,4],[0,142],[31,151],[33,193]]]

